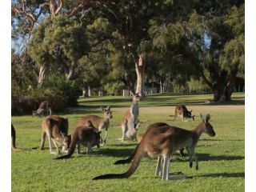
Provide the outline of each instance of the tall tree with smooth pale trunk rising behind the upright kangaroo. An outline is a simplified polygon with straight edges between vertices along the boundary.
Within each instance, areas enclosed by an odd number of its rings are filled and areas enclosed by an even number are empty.
[[[94,14],[95,18],[106,18],[112,26],[111,35],[108,36],[112,50],[107,55],[112,61],[110,65],[113,71],[110,73],[120,79],[128,89],[142,95],[146,53],[150,46],[149,21],[163,15],[163,10],[167,11],[170,1],[113,0],[101,1],[99,4],[100,6],[91,6],[92,11],[85,12],[87,15]],[[98,11],[95,13],[94,10]],[[82,20],[87,22],[88,16]]]

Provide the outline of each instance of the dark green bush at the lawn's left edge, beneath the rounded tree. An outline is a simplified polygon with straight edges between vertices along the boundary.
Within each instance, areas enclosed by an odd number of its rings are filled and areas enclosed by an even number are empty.
[[[68,106],[76,106],[80,94],[74,82],[63,81],[62,78],[50,78],[35,90],[22,90],[12,85],[12,114],[32,114],[41,102],[49,102],[54,112],[61,112]]]

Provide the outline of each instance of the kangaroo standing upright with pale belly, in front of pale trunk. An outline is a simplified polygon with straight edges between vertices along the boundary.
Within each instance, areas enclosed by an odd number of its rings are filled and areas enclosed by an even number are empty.
[[[138,94],[132,94],[133,103],[130,106],[130,109],[126,111],[126,114],[122,118],[121,127],[122,127],[122,142],[125,138],[137,140],[137,130],[139,126],[139,107],[138,101],[140,96]]]

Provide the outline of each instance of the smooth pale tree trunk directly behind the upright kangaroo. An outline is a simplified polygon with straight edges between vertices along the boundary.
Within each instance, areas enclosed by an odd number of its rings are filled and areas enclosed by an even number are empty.
[[[138,62],[135,62],[135,70],[137,74],[137,87],[135,93],[139,94],[141,97],[144,96],[145,66],[146,62],[144,62],[144,56],[140,54]]]

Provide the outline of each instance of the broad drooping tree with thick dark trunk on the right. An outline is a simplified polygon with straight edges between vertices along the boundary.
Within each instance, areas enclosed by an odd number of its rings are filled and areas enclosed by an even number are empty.
[[[195,8],[188,9],[187,18],[152,21],[152,45],[162,58],[178,61],[178,75],[202,77],[214,92],[214,102],[229,101],[234,82],[244,74],[244,5],[198,3],[185,6]]]

